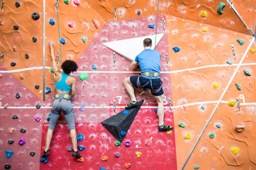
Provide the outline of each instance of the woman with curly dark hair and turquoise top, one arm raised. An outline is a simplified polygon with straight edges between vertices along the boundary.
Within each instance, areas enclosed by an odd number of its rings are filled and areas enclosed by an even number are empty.
[[[71,94],[71,96],[74,97],[76,94],[76,79],[70,76],[69,74],[71,72],[76,72],[77,64],[74,61],[66,60],[61,64],[61,69],[63,70],[63,73],[61,73],[55,61],[52,41],[50,41],[50,47],[51,47],[51,57],[52,57],[52,68],[55,74],[56,95],[53,98],[50,123],[46,133],[45,149],[42,157],[45,158],[46,156],[50,155],[49,147],[50,147],[53,131],[58,121],[58,118],[60,116],[60,113],[61,111],[63,111],[63,114],[68,123],[70,138],[73,145],[72,156],[75,156],[76,158],[81,158],[81,155],[77,151],[77,137],[76,137],[74,111],[70,101],[71,97],[69,96],[69,94]]]

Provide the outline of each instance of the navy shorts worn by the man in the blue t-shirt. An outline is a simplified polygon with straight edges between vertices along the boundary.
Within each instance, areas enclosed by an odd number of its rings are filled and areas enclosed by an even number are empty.
[[[135,88],[138,88],[138,86],[137,86],[137,79],[138,79],[138,76],[131,76],[130,77],[130,81],[131,81],[132,85]],[[145,84],[147,84],[147,82],[149,82],[149,79],[140,76],[139,77],[139,81],[140,81],[140,86],[144,86]],[[159,79],[151,79],[151,82],[152,82],[152,87],[153,87],[154,90],[156,90],[159,87],[161,87],[160,91],[158,91],[157,93],[151,92],[151,94],[154,95],[154,96],[161,96],[161,95],[163,95],[164,94],[164,90],[162,88],[162,83],[163,82],[161,81],[161,79],[160,78]],[[150,82],[146,86],[144,86],[143,88],[148,88],[148,89],[152,90]]]

